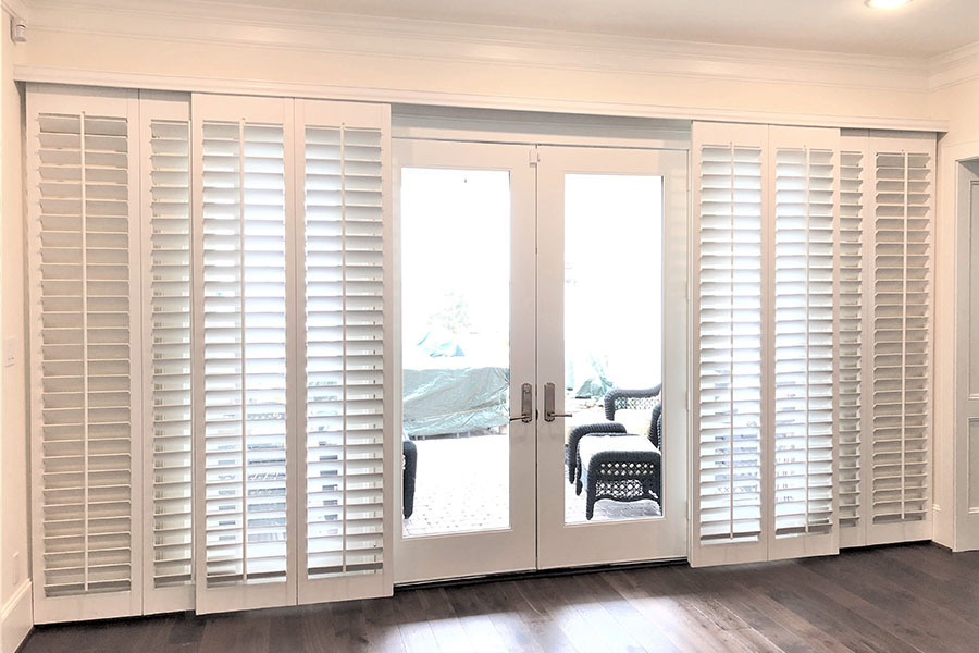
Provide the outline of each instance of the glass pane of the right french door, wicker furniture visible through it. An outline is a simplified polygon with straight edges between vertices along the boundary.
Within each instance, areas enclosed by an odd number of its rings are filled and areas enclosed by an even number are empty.
[[[578,440],[566,469],[575,480],[566,486],[567,523],[662,515],[661,483],[653,478],[659,465],[653,419],[662,379],[661,262],[661,176],[565,175],[563,391],[572,415],[566,439],[608,422],[605,397],[612,390],[621,391],[610,399],[618,404],[612,418],[631,434]],[[608,463],[598,463],[603,458]],[[625,465],[634,478],[603,473],[595,482],[615,498],[590,504],[583,486],[590,467],[618,471]]]

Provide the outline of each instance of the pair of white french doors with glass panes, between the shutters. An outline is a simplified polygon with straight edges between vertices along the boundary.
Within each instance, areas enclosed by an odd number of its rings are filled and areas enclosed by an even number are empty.
[[[685,556],[685,152],[406,139],[394,158],[396,582]],[[614,387],[642,391],[615,429]],[[588,424],[622,433],[572,444]],[[611,482],[617,461],[637,471]]]

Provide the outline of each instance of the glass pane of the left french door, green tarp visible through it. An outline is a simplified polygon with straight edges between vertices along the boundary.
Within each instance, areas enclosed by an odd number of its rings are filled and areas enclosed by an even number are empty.
[[[510,175],[401,171],[405,537],[508,528]]]

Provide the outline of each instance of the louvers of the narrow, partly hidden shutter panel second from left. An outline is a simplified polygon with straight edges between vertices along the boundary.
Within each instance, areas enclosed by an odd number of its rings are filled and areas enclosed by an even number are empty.
[[[146,106],[146,104],[145,104]],[[193,578],[190,124],[149,122],[152,582]]]

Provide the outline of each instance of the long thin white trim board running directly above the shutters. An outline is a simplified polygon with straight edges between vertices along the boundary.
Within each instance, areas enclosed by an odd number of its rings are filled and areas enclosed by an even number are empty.
[[[715,109],[708,107],[687,108],[668,104],[593,102],[559,98],[529,98],[492,94],[461,94],[398,88],[336,86],[329,84],[278,83],[258,79],[215,79],[197,76],[111,73],[104,71],[32,65],[15,65],[14,79],[17,82],[33,82],[39,84],[138,88],[140,90],[176,90],[226,95],[352,100],[361,102],[427,104],[470,109],[501,109],[507,111],[537,111],[545,113],[577,113],[585,115],[701,120],[816,127],[947,132],[950,124],[946,120],[933,119],[757,112]]]

